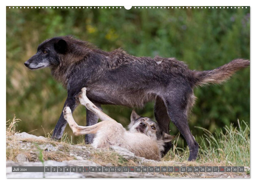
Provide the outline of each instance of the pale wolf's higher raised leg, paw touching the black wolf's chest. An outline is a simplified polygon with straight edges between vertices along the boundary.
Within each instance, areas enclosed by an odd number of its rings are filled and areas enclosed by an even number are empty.
[[[79,101],[82,105],[84,105],[87,109],[89,109],[90,111],[92,111],[94,114],[96,114],[99,119],[101,119],[102,121],[106,121],[106,120],[112,120],[115,121],[114,119],[112,119],[111,117],[109,117],[107,114],[103,113],[98,107],[96,107],[96,105],[94,105],[86,96],[86,88],[82,88],[81,89],[81,93],[79,94]]]

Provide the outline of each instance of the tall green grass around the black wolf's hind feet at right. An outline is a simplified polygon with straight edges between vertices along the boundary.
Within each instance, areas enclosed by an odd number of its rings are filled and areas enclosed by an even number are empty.
[[[196,162],[206,165],[250,166],[250,127],[247,122],[238,120],[238,127],[231,123],[214,134],[202,127],[196,128],[204,131],[204,134],[199,137],[201,144]],[[180,139],[179,135],[177,137]],[[163,158],[165,161],[184,162],[188,159],[188,147],[185,149],[176,147],[177,141],[173,142],[173,150]]]

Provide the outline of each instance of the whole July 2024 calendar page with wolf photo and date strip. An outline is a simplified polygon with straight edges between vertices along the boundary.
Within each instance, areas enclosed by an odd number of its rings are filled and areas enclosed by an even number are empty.
[[[6,177],[250,178],[250,6],[7,5]]]

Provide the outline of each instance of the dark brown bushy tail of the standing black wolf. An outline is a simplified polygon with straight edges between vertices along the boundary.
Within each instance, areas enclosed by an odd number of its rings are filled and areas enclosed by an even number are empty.
[[[195,85],[205,85],[208,83],[219,84],[229,79],[236,71],[250,65],[250,60],[234,59],[233,61],[216,68],[214,70],[193,71]]]

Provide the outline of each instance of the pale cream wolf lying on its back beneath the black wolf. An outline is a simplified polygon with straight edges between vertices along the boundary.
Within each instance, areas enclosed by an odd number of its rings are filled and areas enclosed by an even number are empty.
[[[120,146],[146,159],[160,160],[164,142],[170,142],[175,136],[161,132],[157,123],[147,117],[140,117],[133,110],[129,131],[104,114],[87,97],[86,88],[79,94],[79,100],[88,110],[93,112],[102,121],[92,126],[79,126],[72,117],[69,107],[63,110],[64,118],[68,122],[75,136],[95,134],[92,146],[108,147]]]

